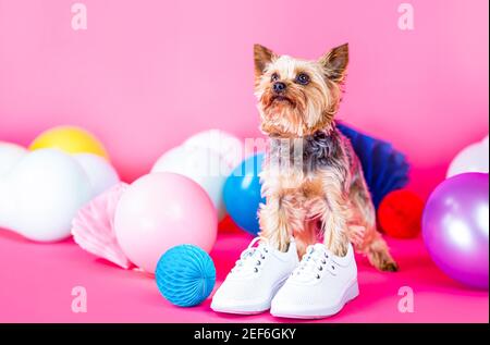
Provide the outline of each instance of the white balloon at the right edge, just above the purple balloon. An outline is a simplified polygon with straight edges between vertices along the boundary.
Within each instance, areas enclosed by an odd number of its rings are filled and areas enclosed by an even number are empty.
[[[456,155],[448,169],[446,178],[467,172],[489,172],[488,136]]]

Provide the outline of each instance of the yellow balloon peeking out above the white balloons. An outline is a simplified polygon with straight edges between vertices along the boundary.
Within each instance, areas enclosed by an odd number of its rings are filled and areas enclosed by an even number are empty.
[[[75,126],[58,126],[41,133],[29,150],[58,148],[69,153],[94,153],[109,160],[103,145],[90,133]]]

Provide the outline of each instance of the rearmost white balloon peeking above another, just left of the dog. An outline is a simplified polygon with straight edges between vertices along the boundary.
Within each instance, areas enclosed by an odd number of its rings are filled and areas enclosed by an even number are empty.
[[[230,168],[230,173],[244,159],[244,144],[233,134],[221,130],[199,132],[184,141],[185,147],[204,147],[216,152]]]

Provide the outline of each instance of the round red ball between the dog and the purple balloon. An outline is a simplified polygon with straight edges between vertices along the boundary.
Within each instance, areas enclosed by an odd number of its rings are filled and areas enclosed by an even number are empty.
[[[389,193],[378,208],[378,223],[392,237],[416,237],[421,230],[424,201],[408,189]]]

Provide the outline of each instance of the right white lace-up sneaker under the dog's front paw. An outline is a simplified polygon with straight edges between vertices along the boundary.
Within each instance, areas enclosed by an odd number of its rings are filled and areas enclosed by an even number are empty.
[[[358,294],[352,245],[345,257],[338,257],[316,244],[308,247],[299,267],[278,292],[270,312],[283,318],[324,318],[338,313]]]

